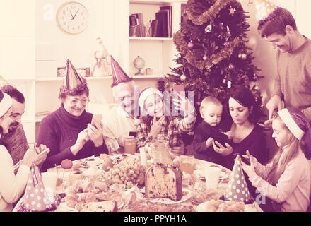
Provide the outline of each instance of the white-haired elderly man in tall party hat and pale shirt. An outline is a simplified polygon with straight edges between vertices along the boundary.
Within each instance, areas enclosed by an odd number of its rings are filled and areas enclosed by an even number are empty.
[[[111,66],[112,93],[117,107],[113,107],[108,114],[102,116],[102,132],[109,153],[124,153],[124,137],[129,136],[129,132],[136,132],[140,122],[139,90],[136,90],[137,86],[132,78],[127,76],[113,57]]]

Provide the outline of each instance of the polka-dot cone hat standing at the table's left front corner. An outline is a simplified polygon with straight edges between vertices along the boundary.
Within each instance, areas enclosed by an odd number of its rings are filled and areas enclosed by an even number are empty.
[[[35,165],[35,162],[31,167],[23,204],[25,209],[31,211],[43,211],[52,207],[52,202],[42,182],[40,169]]]

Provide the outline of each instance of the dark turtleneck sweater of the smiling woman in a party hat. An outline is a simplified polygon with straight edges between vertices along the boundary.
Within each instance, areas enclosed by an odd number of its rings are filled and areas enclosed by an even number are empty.
[[[81,116],[76,117],[64,109],[59,109],[42,119],[37,135],[37,144],[45,144],[50,152],[42,165],[42,171],[60,165],[64,159],[78,160],[100,153],[108,153],[105,141],[99,147],[95,147],[93,141],[88,141],[76,154],[71,153],[70,147],[76,143],[78,133],[86,129],[91,123],[93,114],[84,111]]]

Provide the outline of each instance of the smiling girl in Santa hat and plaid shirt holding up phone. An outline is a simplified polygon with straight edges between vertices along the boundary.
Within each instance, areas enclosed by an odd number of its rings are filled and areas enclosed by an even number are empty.
[[[167,140],[172,152],[184,153],[182,133],[189,133],[194,129],[196,112],[187,98],[179,97],[173,100],[176,110],[183,110],[184,117],[173,117],[170,107],[167,106],[163,94],[159,90],[146,88],[139,97],[139,106],[145,116],[137,127],[137,147],[141,148],[153,141],[154,138]]]

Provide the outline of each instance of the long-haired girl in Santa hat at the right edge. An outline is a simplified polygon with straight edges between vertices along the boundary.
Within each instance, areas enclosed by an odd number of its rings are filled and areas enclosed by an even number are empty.
[[[288,107],[274,116],[272,129],[279,147],[274,158],[263,166],[247,151],[250,165],[242,162],[243,170],[252,185],[271,199],[273,210],[306,211],[311,176],[303,150],[311,150],[310,124],[298,109]]]

